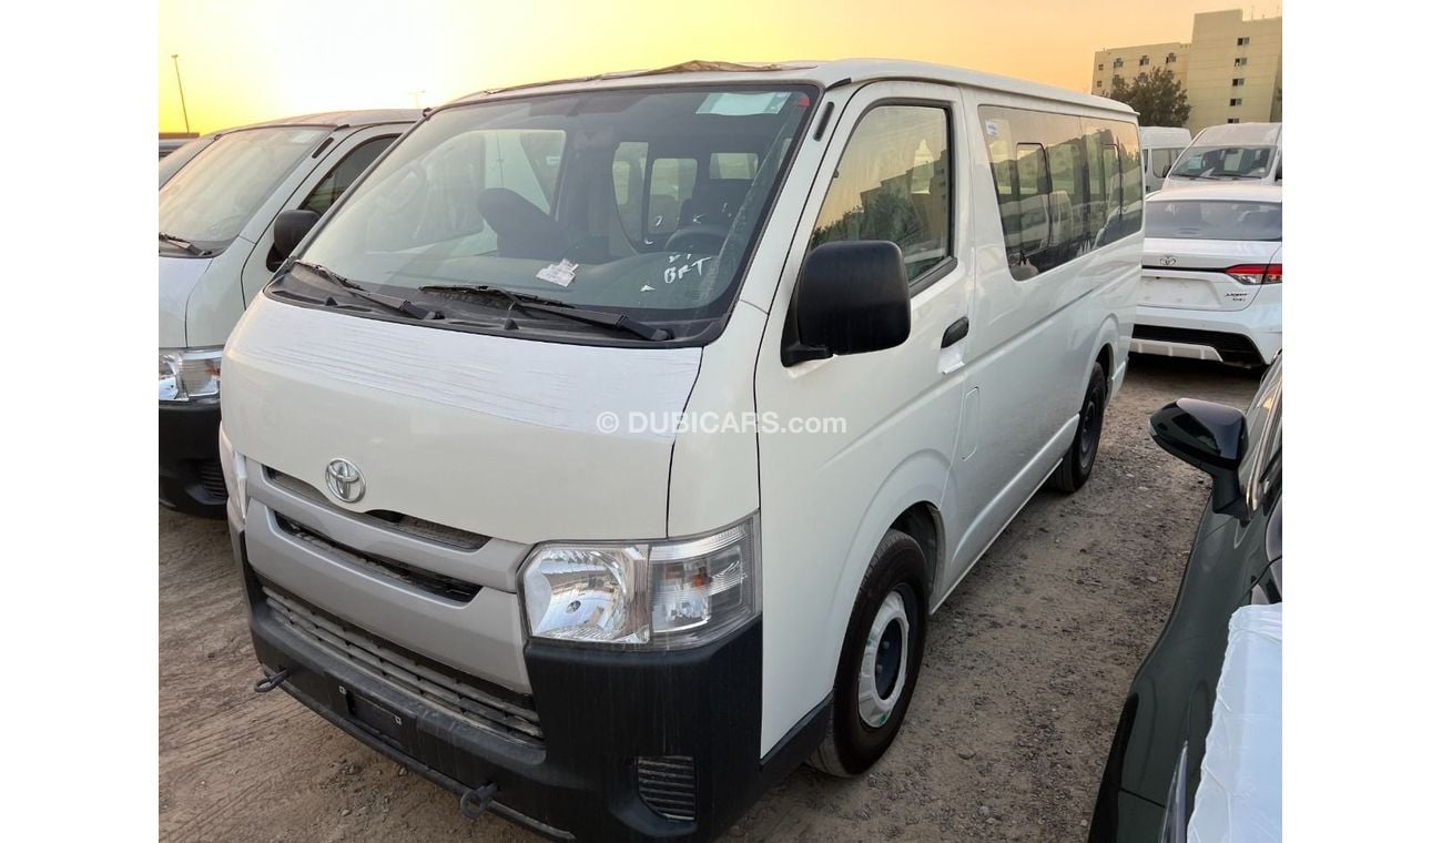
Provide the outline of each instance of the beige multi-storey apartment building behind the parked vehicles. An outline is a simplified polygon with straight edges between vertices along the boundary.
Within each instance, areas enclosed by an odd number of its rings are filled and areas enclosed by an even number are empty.
[[[1155,69],[1175,73],[1187,91],[1193,134],[1223,122],[1282,120],[1282,19],[1244,19],[1240,9],[1193,17],[1191,40],[1097,50],[1092,92],[1106,97],[1112,79]]]

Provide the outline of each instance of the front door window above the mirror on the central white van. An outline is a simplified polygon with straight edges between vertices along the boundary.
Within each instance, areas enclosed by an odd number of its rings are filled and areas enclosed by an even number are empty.
[[[810,246],[891,241],[916,281],[952,246],[947,112],[883,105],[857,124],[822,200]]]

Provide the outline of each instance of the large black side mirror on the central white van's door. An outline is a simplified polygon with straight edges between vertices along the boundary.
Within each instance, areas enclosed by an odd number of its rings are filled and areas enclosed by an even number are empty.
[[[890,241],[822,244],[802,261],[792,300],[795,340],[782,365],[891,349],[911,333],[911,290]]]

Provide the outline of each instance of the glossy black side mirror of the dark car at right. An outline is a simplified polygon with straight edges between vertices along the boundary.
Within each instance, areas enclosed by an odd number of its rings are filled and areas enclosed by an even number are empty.
[[[1180,398],[1152,414],[1151,434],[1164,451],[1211,474],[1211,512],[1247,519],[1237,474],[1247,451],[1246,415],[1240,409]]]

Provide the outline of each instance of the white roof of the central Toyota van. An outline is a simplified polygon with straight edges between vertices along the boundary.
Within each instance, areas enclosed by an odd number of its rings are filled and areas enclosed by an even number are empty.
[[[767,81],[774,81],[777,84],[813,82],[819,84],[822,88],[833,88],[852,82],[874,82],[880,79],[940,82],[943,85],[966,85],[970,88],[1038,97],[1043,99],[1053,99],[1056,102],[1086,105],[1089,108],[1116,111],[1128,115],[1136,114],[1125,102],[1118,102],[1116,99],[1107,99],[1105,97],[1077,94],[1064,88],[1053,88],[1051,85],[1009,79],[1007,76],[995,76],[992,73],[965,71],[946,65],[908,62],[900,59],[836,59],[828,62],[776,63],[691,61],[649,71],[623,71],[617,73],[598,73],[596,76],[581,76],[574,79],[513,85],[509,88],[490,88],[453,99],[443,108],[477,102],[492,97],[503,97],[513,91],[562,92],[596,88],[633,88],[636,86],[636,79],[642,78],[646,79],[647,84],[656,85],[725,84],[734,82],[740,75],[764,76]]]

